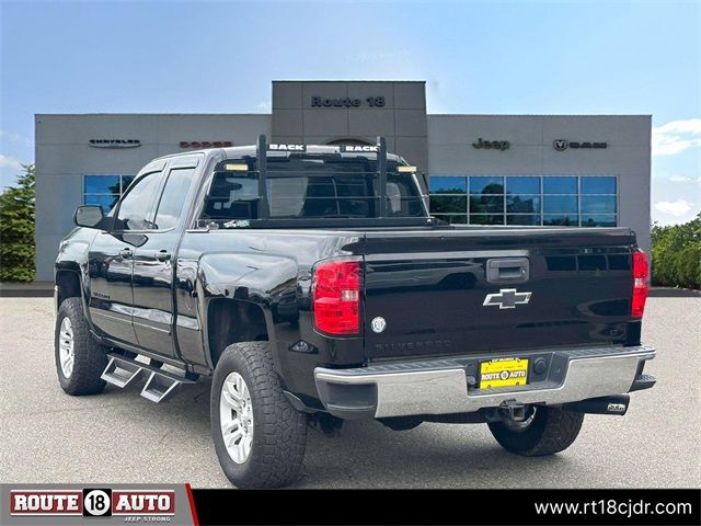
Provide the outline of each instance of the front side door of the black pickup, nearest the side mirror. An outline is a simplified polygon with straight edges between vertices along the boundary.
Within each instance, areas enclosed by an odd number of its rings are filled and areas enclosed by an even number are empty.
[[[112,228],[95,237],[88,254],[90,318],[104,335],[131,345],[137,344],[131,321],[134,252],[152,221],[160,178],[156,168],[131,183],[113,213]]]

